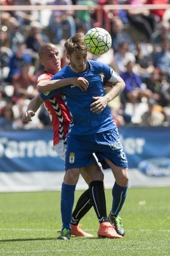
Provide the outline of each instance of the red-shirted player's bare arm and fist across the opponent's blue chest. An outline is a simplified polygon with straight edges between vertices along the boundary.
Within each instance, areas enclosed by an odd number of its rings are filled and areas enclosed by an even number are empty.
[[[37,83],[37,90],[39,93],[45,93],[47,91],[55,90],[70,84],[74,84],[82,91],[86,91],[88,89],[88,81],[84,77],[72,77],[52,81],[40,80]]]

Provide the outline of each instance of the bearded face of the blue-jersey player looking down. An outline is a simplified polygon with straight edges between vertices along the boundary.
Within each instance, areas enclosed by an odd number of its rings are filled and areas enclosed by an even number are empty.
[[[85,71],[87,64],[87,52],[73,52],[71,55],[67,55],[70,61],[71,69],[76,73],[81,73]]]

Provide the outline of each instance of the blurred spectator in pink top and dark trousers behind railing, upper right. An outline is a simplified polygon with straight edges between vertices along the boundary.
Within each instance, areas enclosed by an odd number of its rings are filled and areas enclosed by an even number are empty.
[[[143,6],[145,0],[127,0],[127,3],[131,6],[138,5]],[[127,11],[127,16],[130,23],[136,27],[139,31],[142,31],[146,36],[146,41],[150,40],[150,35],[154,32],[156,27],[155,16],[150,14],[150,10],[131,8]]]

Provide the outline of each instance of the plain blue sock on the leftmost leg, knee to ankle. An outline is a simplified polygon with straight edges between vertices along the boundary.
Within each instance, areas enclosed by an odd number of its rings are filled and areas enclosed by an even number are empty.
[[[71,230],[71,214],[74,204],[74,191],[76,185],[67,185],[62,183],[61,190],[61,216],[62,216],[62,230],[69,229]]]

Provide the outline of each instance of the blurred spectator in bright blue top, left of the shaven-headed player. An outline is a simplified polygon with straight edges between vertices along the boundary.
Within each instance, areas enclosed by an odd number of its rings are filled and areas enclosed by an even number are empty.
[[[7,82],[11,82],[15,74],[20,73],[24,63],[31,63],[32,58],[26,53],[26,44],[17,44],[16,52],[9,61],[9,74],[6,79]]]

